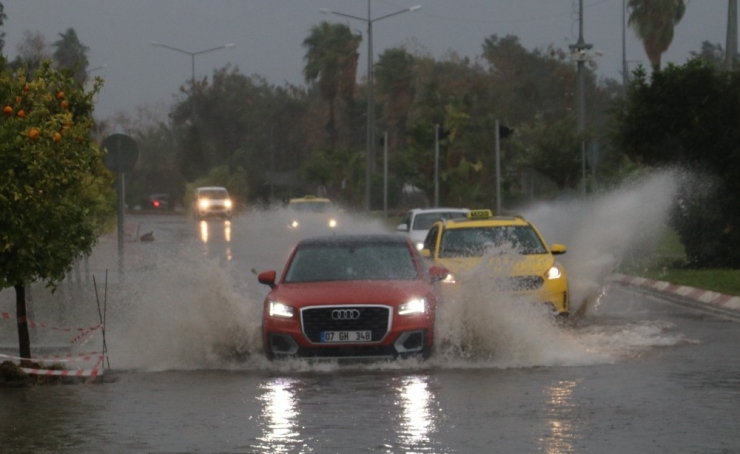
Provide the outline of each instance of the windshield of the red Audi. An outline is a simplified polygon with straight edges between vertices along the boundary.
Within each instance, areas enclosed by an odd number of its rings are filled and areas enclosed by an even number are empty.
[[[417,278],[411,251],[405,243],[334,243],[299,246],[284,282]]]

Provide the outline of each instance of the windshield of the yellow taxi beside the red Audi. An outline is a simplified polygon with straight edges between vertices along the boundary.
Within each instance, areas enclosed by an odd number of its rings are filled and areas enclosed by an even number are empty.
[[[529,226],[448,229],[442,234],[440,257],[481,257],[491,249],[510,248],[518,254],[545,254],[539,235]]]

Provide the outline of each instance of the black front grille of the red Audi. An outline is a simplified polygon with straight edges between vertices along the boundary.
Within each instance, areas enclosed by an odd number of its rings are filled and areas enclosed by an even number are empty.
[[[334,320],[332,311],[336,309],[357,309],[360,316],[356,320]],[[303,309],[303,333],[311,342],[319,343],[322,331],[369,330],[372,333],[372,342],[380,342],[388,332],[390,310],[386,306],[324,306]]]

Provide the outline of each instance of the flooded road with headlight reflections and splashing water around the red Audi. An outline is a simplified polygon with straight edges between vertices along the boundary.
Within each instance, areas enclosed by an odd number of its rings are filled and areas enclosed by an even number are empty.
[[[210,220],[204,240],[186,217],[136,220],[155,241],[127,244],[124,288],[110,278],[104,383],[0,389],[2,452],[739,449],[737,322],[604,287],[560,325],[483,293],[471,306],[478,324],[440,308],[425,362],[271,363],[258,345],[267,287],[252,268],[280,270],[295,242],[275,233],[280,222]],[[9,293],[0,312],[11,312]],[[62,316],[37,295],[35,316],[98,317],[89,295],[65,304]],[[0,325],[0,344],[14,328]],[[36,336],[32,345],[65,342]]]

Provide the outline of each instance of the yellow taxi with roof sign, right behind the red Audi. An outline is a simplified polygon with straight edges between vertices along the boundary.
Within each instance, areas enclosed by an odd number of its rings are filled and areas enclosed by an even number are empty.
[[[548,246],[537,228],[521,216],[493,216],[491,210],[471,210],[466,218],[432,225],[421,255],[450,270],[443,282],[452,288],[464,285],[459,282],[464,275],[486,260],[485,272],[497,288],[568,315],[568,277],[563,265],[555,260],[566,250],[562,244]]]

